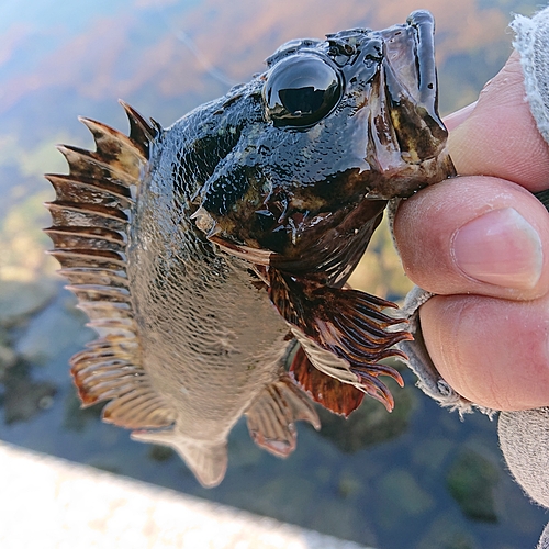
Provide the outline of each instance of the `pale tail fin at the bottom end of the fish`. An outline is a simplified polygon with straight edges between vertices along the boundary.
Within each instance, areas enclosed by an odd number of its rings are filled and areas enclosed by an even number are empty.
[[[194,440],[170,430],[134,430],[132,439],[169,446],[178,452],[204,488],[215,488],[227,470],[227,441]]]

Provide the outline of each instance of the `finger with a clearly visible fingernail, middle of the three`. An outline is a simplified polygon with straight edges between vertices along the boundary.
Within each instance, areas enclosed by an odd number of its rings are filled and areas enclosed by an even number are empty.
[[[394,236],[404,270],[437,294],[530,300],[549,291],[549,215],[515,183],[458,177],[403,201]]]

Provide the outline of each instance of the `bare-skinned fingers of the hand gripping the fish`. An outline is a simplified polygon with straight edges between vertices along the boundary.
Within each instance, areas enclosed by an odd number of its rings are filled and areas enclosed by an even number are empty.
[[[466,399],[549,405],[549,146],[525,101],[517,54],[479,101],[447,120],[461,177],[403,201],[394,235],[407,276],[436,293],[419,310],[427,350]]]

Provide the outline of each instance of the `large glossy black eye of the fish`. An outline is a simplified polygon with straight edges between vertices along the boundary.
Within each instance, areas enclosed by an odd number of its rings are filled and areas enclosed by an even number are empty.
[[[328,114],[341,97],[336,69],[314,54],[285,57],[264,88],[267,116],[277,126],[307,126]]]

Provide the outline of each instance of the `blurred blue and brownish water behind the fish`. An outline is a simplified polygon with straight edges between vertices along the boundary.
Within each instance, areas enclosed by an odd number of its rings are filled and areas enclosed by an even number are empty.
[[[348,421],[321,411],[285,461],[229,439],[226,479],[199,486],[171,450],[128,439],[80,410],[68,359],[92,334],[44,254],[42,173],[66,172],[54,145],[92,147],[82,114],[125,130],[116,99],[169,125],[262,69],[295,37],[382,29],[418,8],[437,21],[440,110],[473,101],[511,53],[514,0],[3,0],[0,4],[0,438],[380,549],[534,547],[544,512],[512,482],[495,424],[461,422],[415,386],[392,386],[390,415],[368,401]],[[354,283],[401,299],[411,287],[386,228]],[[0,486],[1,490],[1,486]],[[30,494],[31,496],[31,494]],[[86,497],[86,494],[82,494]]]

